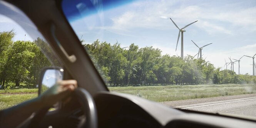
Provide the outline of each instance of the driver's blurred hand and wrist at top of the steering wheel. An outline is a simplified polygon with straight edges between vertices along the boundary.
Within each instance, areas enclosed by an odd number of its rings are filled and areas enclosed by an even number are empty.
[[[57,101],[62,100],[77,88],[76,80],[62,80],[40,95],[39,101],[45,107],[51,107]]]

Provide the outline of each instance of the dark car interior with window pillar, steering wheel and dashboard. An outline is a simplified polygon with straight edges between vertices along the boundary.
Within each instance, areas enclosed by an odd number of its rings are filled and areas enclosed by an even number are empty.
[[[61,3],[62,0],[0,1],[1,14],[18,20],[17,10],[21,10],[29,18],[18,24],[37,37],[38,32],[24,22],[35,25],[62,62],[63,79],[77,80],[79,86],[56,110],[37,111],[20,128],[256,128],[256,121],[251,118],[169,108],[109,91],[65,17]]]

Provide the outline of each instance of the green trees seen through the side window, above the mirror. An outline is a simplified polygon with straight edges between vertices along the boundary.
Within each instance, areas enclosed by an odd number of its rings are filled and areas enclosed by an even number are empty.
[[[13,30],[0,32],[0,85],[2,88],[6,83],[15,83],[15,86],[20,86],[20,83],[35,86],[38,84],[41,69],[52,65],[40,49],[43,48],[45,53],[50,53],[49,46],[40,38],[34,42],[13,42],[14,36]],[[55,60],[53,55],[49,54],[49,57]]]

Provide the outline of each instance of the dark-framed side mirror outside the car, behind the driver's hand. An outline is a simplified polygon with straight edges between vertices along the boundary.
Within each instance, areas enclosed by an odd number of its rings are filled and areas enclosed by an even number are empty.
[[[63,80],[63,69],[59,67],[43,68],[39,78],[38,96],[54,86],[57,81]]]

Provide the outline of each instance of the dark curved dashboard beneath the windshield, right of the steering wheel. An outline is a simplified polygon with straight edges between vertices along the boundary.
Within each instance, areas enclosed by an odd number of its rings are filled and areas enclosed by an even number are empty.
[[[95,95],[99,128],[256,128],[256,121],[184,112],[116,92]]]

